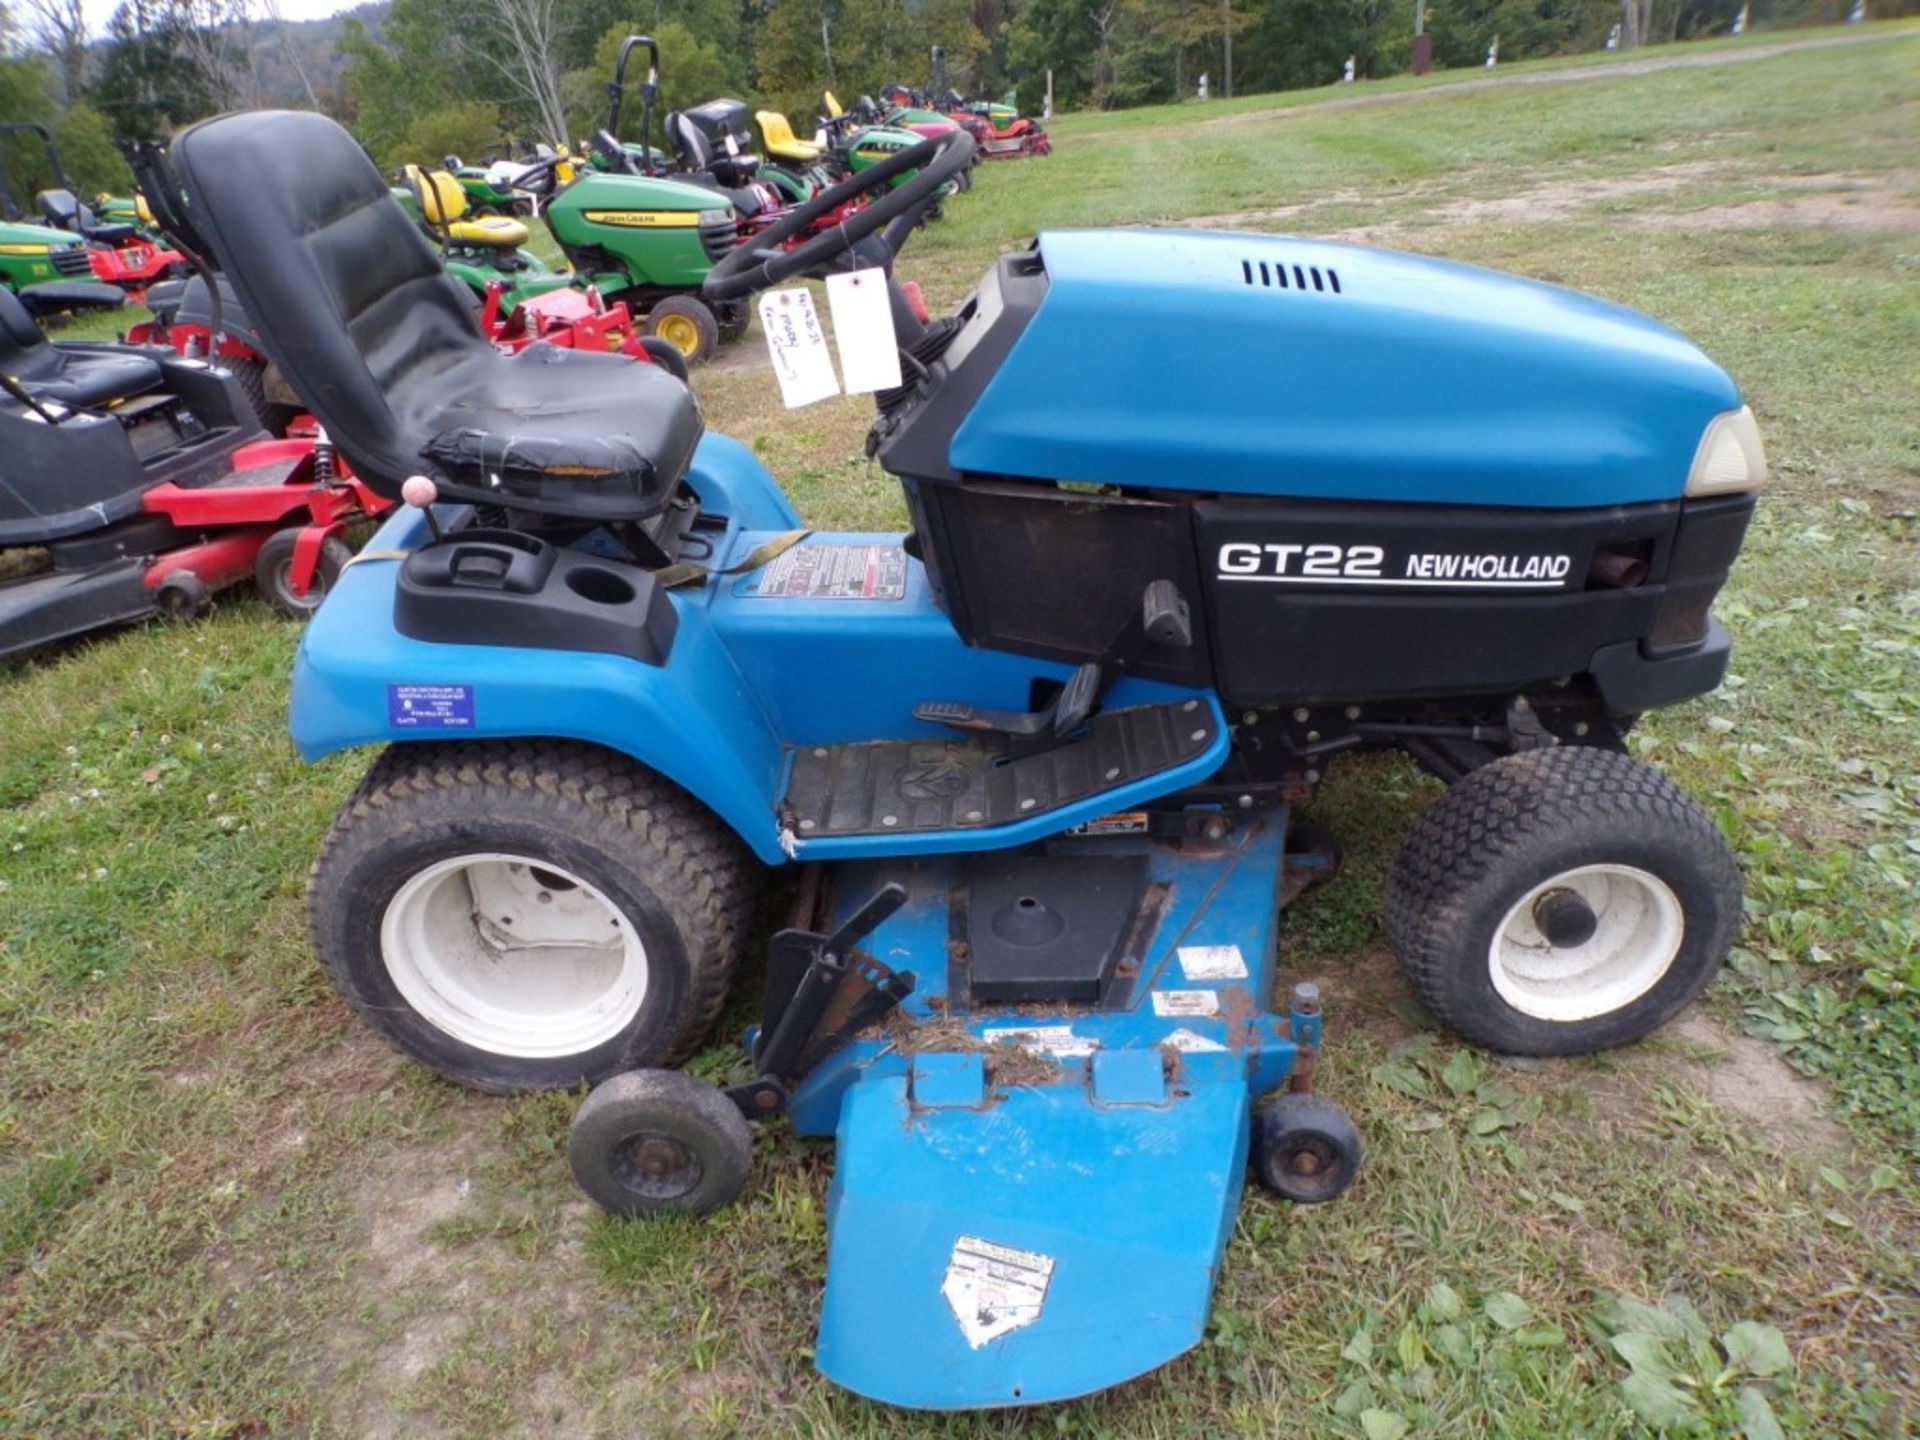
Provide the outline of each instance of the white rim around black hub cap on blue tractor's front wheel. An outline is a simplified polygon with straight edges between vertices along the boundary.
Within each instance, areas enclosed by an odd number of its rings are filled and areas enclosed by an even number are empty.
[[[1553,945],[1534,906],[1572,891],[1594,912],[1582,945]],[[1661,983],[1680,954],[1686,918],[1659,876],[1634,866],[1580,866],[1534,885],[1507,910],[1488,947],[1494,991],[1523,1016],[1571,1023],[1613,1014]]]

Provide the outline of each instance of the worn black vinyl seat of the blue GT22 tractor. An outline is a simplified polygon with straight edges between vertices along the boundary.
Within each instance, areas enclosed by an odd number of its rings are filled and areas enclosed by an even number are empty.
[[[691,392],[626,355],[503,355],[380,171],[324,115],[217,115],[173,146],[188,215],[294,392],[353,468],[397,497],[643,520],[703,422]]]

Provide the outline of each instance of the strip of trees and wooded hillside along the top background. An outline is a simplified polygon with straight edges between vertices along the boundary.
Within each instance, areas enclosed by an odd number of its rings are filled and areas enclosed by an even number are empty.
[[[125,184],[115,136],[219,109],[286,104],[353,127],[382,163],[580,140],[603,119],[620,38],[662,50],[662,106],[739,94],[808,129],[843,98],[927,79],[929,50],[972,94],[1037,109],[1327,84],[1405,67],[1419,0],[390,0],[280,21],[267,0],[121,0],[104,36],[81,0],[0,0],[0,119],[50,123],[81,188]],[[1430,0],[1440,67],[1832,23],[1851,0]],[[1880,15],[1920,0],[1874,0]],[[1229,56],[1231,52],[1231,65]],[[637,79],[637,77],[636,77]],[[4,156],[15,194],[48,175]]]

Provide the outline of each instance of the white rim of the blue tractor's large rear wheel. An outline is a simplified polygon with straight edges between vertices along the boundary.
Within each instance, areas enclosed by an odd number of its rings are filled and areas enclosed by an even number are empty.
[[[426,1023],[499,1056],[582,1054],[647,998],[634,924],[588,881],[524,854],[459,854],[411,876],[380,920],[380,950]]]

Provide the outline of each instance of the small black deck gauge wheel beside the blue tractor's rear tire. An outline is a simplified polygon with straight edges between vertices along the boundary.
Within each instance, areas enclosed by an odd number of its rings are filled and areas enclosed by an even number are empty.
[[[678,1069],[630,1069],[580,1106],[566,1165],[616,1215],[705,1215],[747,1183],[753,1133],[712,1085]]]

